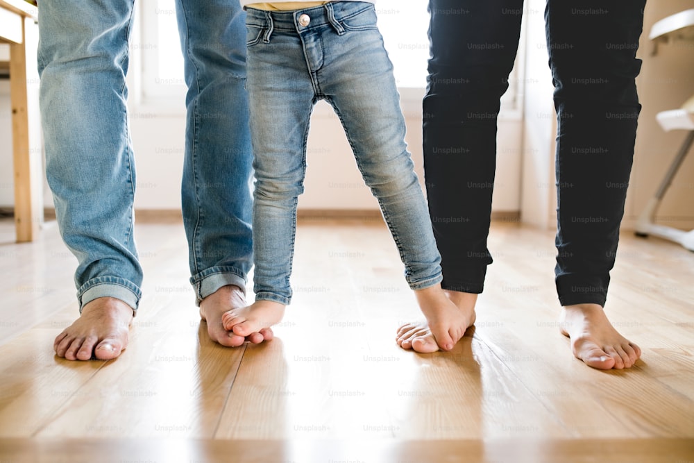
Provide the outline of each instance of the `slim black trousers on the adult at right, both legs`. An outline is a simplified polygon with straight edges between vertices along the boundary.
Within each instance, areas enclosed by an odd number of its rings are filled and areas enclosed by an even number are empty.
[[[641,105],[635,78],[645,0],[548,0],[557,110],[557,293],[604,305]],[[443,287],[480,293],[491,254],[499,99],[523,0],[430,0],[424,165]]]

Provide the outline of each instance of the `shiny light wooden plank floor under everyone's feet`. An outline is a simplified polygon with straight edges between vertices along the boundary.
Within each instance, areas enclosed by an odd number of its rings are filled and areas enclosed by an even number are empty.
[[[643,350],[597,371],[557,328],[551,232],[495,223],[477,323],[452,353],[418,318],[380,220],[300,222],[277,338],[201,326],[181,224],[138,224],[144,298],[112,362],[68,362],[76,260],[55,224],[0,221],[0,462],[694,462],[694,253],[623,234],[606,310]]]

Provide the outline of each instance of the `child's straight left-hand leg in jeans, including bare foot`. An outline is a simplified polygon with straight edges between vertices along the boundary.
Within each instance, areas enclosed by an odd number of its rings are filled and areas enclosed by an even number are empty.
[[[282,24],[268,24],[267,15],[256,10],[248,10],[246,24],[246,88],[256,178],[255,303],[223,316],[224,327],[240,336],[281,321],[291,301],[296,203],[303,192],[306,137],[314,105],[314,90],[296,34]]]

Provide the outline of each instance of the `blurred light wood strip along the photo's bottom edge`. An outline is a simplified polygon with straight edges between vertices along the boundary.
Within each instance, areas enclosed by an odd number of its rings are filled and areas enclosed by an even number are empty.
[[[691,439],[0,439],[0,461],[13,463],[679,463],[693,455]]]

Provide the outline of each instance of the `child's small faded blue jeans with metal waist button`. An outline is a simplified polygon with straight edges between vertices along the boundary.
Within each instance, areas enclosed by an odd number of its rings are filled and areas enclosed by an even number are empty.
[[[308,24],[301,17],[310,18]],[[316,101],[335,109],[359,171],[378,199],[412,289],[441,281],[427,205],[405,145],[393,67],[371,3],[294,12],[248,9],[248,96],[255,161],[257,300],[289,304],[297,197]]]

